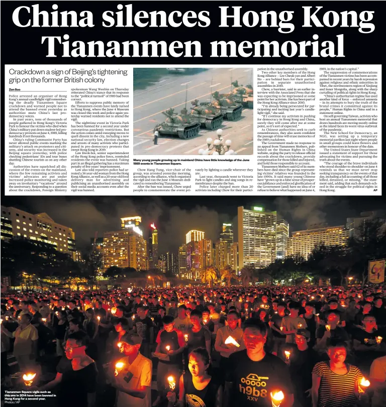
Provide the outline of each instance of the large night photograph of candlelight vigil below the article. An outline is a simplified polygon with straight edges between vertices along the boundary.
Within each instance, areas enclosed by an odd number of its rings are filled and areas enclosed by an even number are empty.
[[[1,406],[385,405],[381,197],[1,211]]]

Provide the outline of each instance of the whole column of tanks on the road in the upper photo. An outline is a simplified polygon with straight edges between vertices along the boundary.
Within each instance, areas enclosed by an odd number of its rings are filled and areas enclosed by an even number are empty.
[[[215,130],[219,128],[223,120],[234,121],[241,117],[243,107],[253,108],[252,85],[239,85],[232,82],[234,88],[229,93],[214,92],[213,102],[201,102],[196,99],[191,102],[190,112],[185,107],[180,114],[173,108],[162,112],[166,116],[165,121],[158,123],[154,131],[160,135],[178,135],[182,140],[195,137],[200,128]]]

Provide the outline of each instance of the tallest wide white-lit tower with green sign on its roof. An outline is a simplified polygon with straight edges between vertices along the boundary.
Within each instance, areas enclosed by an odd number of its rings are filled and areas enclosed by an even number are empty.
[[[263,268],[276,258],[276,211],[263,207],[238,207],[239,268]]]

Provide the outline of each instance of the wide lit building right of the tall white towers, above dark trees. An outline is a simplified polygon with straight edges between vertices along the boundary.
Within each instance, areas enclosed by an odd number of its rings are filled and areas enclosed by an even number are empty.
[[[341,226],[323,226],[292,232],[288,241],[288,256],[301,255],[306,260],[315,246],[345,246],[349,237],[349,229]]]

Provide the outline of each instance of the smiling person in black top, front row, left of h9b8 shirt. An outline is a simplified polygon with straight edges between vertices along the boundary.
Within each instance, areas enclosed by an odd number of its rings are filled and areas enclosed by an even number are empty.
[[[168,407],[222,407],[223,386],[221,381],[208,374],[211,359],[205,348],[197,348],[190,352],[188,370],[179,378],[178,391],[169,391]],[[178,376],[177,376],[178,377]]]

